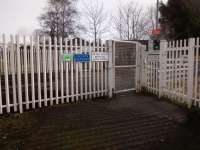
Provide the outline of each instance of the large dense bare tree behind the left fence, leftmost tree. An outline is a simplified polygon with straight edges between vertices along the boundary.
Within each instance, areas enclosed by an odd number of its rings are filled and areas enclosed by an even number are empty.
[[[75,35],[79,26],[76,24],[76,0],[48,0],[45,12],[39,17],[44,33],[63,38]]]

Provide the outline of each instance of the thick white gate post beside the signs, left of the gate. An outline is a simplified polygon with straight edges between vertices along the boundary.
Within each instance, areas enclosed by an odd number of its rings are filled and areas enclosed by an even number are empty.
[[[113,96],[113,41],[107,41],[108,53],[109,53],[109,62],[108,62],[108,96],[112,98]]]

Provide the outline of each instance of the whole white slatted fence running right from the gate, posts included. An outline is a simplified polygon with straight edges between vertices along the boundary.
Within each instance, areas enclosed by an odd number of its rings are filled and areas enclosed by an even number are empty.
[[[161,41],[158,53],[148,52],[144,60],[143,86],[161,96],[199,105],[200,40],[191,38]]]

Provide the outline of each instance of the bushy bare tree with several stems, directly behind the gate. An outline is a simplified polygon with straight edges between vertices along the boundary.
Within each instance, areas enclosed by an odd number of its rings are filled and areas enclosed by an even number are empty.
[[[118,7],[114,29],[121,40],[140,40],[147,37],[149,21],[142,7],[130,2]]]

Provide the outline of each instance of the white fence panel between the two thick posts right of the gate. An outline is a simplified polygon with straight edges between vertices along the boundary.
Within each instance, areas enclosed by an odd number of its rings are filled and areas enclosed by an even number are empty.
[[[189,52],[188,40],[164,42],[161,45],[160,55],[160,87],[161,95],[186,102],[190,98],[189,80]]]

